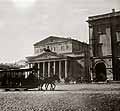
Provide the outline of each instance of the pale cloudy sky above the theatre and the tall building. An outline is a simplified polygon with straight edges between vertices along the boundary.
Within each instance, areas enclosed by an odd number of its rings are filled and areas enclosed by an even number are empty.
[[[34,54],[49,36],[87,42],[89,16],[120,11],[120,0],[0,0],[0,63]]]

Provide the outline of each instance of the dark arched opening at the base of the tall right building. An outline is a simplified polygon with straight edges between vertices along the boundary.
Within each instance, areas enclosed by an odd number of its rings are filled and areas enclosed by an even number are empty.
[[[106,77],[106,66],[104,63],[98,63],[95,66],[96,78],[95,81],[105,81]]]

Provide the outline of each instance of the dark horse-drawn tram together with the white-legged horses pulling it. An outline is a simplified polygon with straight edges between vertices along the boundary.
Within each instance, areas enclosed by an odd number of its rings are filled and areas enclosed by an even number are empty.
[[[0,88],[9,90],[14,88],[19,90],[20,88],[24,90],[38,88],[38,90],[48,89],[50,85],[50,90],[55,89],[55,81],[59,81],[57,75],[51,75],[50,77],[41,77],[38,74],[39,69],[14,69],[14,70],[2,70],[0,71]]]

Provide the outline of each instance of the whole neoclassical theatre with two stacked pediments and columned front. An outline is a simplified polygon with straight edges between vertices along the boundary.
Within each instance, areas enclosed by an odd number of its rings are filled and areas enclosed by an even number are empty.
[[[29,67],[36,65],[42,77],[58,74],[61,81],[66,78],[88,81],[89,55],[89,45],[84,42],[50,36],[35,43],[34,55],[26,58]]]

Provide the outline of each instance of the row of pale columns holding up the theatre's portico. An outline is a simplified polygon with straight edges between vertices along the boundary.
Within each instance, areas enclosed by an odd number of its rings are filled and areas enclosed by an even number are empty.
[[[62,78],[61,78],[61,77],[62,77],[62,76],[61,76],[61,74],[62,74],[62,67],[63,67],[63,66],[62,66],[62,61],[52,61],[52,62],[53,62],[53,64],[52,64],[52,65],[53,65],[53,66],[52,66],[52,67],[53,67],[53,74],[54,74],[54,75],[56,74],[56,63],[58,62],[58,65],[59,65],[58,67],[59,67],[59,69],[58,69],[58,72],[57,72],[57,73],[59,74],[59,78],[62,79]],[[43,70],[42,73],[43,73],[43,77],[44,77],[44,76],[45,76],[45,72],[46,72],[46,67],[45,67],[45,63],[46,63],[46,62],[40,62],[40,63],[42,63],[42,65],[43,65],[43,66],[42,66],[42,68],[43,68],[43,69],[42,69],[42,70]],[[40,63],[37,63],[37,64],[38,64],[38,69],[41,69]],[[48,63],[48,65],[47,65],[47,68],[48,68],[48,69],[47,69],[47,73],[48,73],[48,77],[50,77],[50,73],[51,73],[51,69],[50,69],[50,68],[51,68],[51,62],[48,62],[48,61],[47,61],[47,63]],[[64,69],[65,69],[65,72],[64,72],[65,75],[64,75],[64,77],[67,78],[67,77],[68,77],[68,61],[67,61],[67,60],[64,60],[64,66],[65,66],[65,67],[64,67]],[[33,64],[29,64],[29,68],[32,68],[32,67],[33,67]]]

